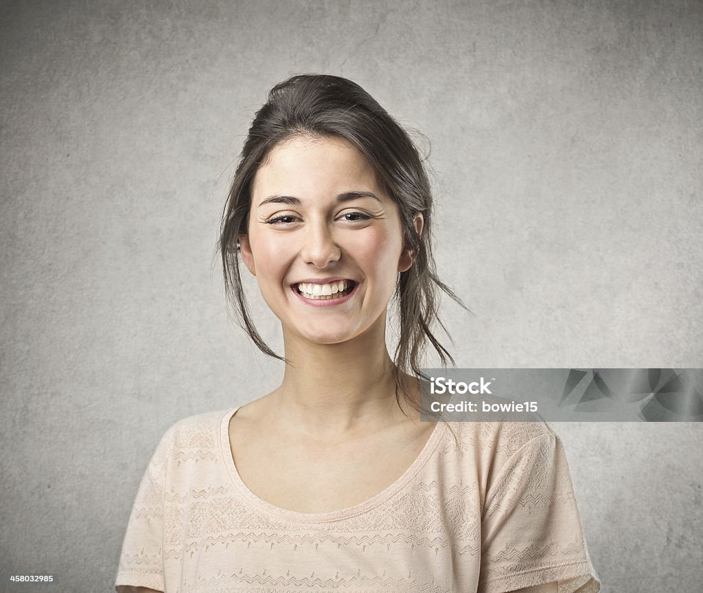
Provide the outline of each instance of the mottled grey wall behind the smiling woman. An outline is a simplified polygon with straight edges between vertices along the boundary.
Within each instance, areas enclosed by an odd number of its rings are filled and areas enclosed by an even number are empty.
[[[280,380],[214,246],[293,73],[426,136],[458,366],[703,366],[700,1],[22,0],[0,27],[0,574],[110,590],[160,435]],[[554,428],[604,590],[697,590],[703,426]]]

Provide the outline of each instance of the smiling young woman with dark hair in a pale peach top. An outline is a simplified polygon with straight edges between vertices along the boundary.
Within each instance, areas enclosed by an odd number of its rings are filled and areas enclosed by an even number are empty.
[[[119,591],[598,591],[546,424],[420,422],[425,345],[451,358],[432,334],[437,291],[451,291],[431,222],[418,153],[366,91],[321,75],[271,90],[220,248],[240,321],[277,357],[248,313],[240,260],[280,319],[283,381],[167,431]]]

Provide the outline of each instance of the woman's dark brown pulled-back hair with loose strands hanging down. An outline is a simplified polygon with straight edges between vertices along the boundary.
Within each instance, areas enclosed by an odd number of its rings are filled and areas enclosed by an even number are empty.
[[[338,136],[363,154],[387,194],[398,206],[404,240],[415,255],[396,284],[399,341],[395,350],[396,398],[410,393],[402,374],[423,376],[420,358],[429,342],[442,364],[453,358],[431,331],[437,322],[439,291],[463,303],[437,277],[432,257],[432,191],[417,148],[405,130],[359,84],[330,75],[298,75],[277,84],[257,111],[240,154],[221,221],[219,250],[225,289],[240,324],[264,354],[273,352],[254,327],[245,300],[238,236],[247,234],[252,183],[271,150],[293,136]],[[423,230],[415,216],[423,215]]]

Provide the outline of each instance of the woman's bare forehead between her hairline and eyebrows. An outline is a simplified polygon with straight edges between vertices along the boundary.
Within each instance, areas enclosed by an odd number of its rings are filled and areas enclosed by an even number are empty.
[[[349,141],[333,136],[294,136],[276,145],[254,177],[253,194],[299,198],[350,190],[383,193],[373,167]],[[379,196],[380,197],[380,196]]]

